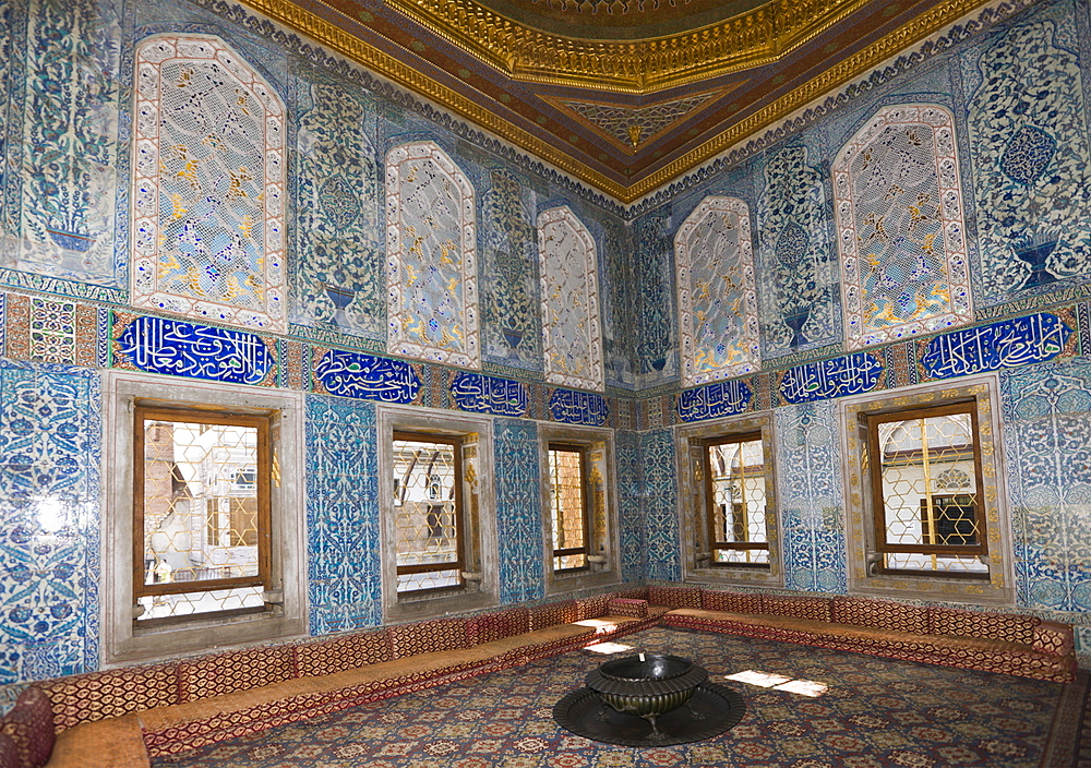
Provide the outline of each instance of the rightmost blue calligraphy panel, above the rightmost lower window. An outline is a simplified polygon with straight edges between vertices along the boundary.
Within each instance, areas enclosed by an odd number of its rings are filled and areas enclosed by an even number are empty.
[[[954,331],[928,341],[921,364],[933,379],[1044,362],[1060,355],[1072,329],[1042,312],[980,328]]]

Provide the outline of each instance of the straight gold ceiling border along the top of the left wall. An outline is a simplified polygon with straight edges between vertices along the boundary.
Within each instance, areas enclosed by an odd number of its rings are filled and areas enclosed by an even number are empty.
[[[444,109],[449,109],[476,125],[494,133],[500,139],[511,142],[524,152],[528,152],[544,163],[553,165],[559,170],[574,177],[594,189],[624,201],[626,187],[608,178],[603,173],[575,160],[572,156],[552,144],[548,144],[532,133],[513,125],[494,112],[461,95],[457,91],[442,85],[424,75],[399,59],[384,53],[374,46],[345,32],[336,24],[315,15],[291,2],[291,0],[239,0],[278,24],[307,35],[320,45],[325,46],[340,56],[386,77],[398,85],[432,99]]]

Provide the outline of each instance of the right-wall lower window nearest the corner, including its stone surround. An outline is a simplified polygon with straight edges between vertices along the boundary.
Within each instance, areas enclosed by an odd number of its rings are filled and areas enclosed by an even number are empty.
[[[687,581],[783,585],[770,413],[679,429]]]

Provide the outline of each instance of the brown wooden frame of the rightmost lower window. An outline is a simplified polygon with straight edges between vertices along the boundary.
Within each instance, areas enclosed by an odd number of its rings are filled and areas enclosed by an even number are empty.
[[[885,423],[890,423],[894,421],[911,421],[913,419],[927,419],[932,417],[939,416],[954,416],[964,413],[970,417],[970,431],[972,440],[972,453],[973,456],[973,467],[974,467],[974,482],[976,496],[976,504],[974,505],[974,518],[978,526],[979,535],[976,544],[936,544],[936,543],[922,543],[922,544],[899,544],[887,541],[887,526],[886,526],[886,497],[883,493],[883,447],[879,445],[879,425]],[[950,403],[940,406],[919,406],[898,410],[887,410],[878,413],[862,413],[861,419],[864,422],[864,427],[867,433],[867,454],[870,457],[870,466],[866,471],[871,476],[871,493],[872,493],[872,516],[873,516],[873,530],[875,531],[874,547],[875,551],[880,555],[885,554],[923,554],[923,555],[936,555],[936,556],[948,556],[948,557],[960,557],[960,556],[981,556],[984,557],[988,554],[988,528],[987,528],[987,515],[984,514],[984,505],[981,503],[982,489],[985,487],[982,477],[982,460],[981,460],[981,432],[978,424],[978,407],[974,400],[960,400],[957,403]],[[959,446],[955,446],[959,447]],[[971,446],[961,446],[963,449]],[[925,489],[927,493],[927,489]],[[935,497],[935,496],[933,496]],[[883,574],[914,574],[920,576],[939,576],[942,578],[987,578],[988,574],[960,574],[958,572],[948,571],[922,571],[922,569],[908,569],[908,568],[887,568],[880,563],[877,564],[876,571]]]

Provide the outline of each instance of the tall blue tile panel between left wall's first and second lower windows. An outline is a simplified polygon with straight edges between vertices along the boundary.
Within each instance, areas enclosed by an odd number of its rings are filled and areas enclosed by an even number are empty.
[[[371,403],[307,398],[307,577],[312,635],[382,623],[379,458]]]

